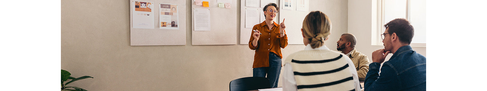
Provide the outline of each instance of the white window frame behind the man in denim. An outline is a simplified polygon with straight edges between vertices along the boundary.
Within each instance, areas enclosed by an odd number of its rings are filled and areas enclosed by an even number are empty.
[[[376,21],[376,28],[372,30],[372,36],[375,36],[375,37],[372,37],[372,45],[384,45],[384,43],[382,43],[382,38],[381,38],[381,34],[384,33],[384,31],[386,30],[384,28],[384,25],[387,23],[387,22],[384,22],[384,0],[377,0],[377,21]],[[410,6],[410,0],[406,0],[406,19],[407,20],[410,20],[411,18],[411,6]],[[411,21],[410,21],[411,22]],[[410,44],[411,46],[419,46],[419,47],[426,47],[426,43],[411,43]]]

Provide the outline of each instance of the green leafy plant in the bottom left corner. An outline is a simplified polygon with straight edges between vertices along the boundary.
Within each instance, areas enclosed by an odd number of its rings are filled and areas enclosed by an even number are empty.
[[[81,77],[75,78],[75,77],[72,77],[71,76],[71,73],[69,73],[68,71],[61,70],[61,91],[87,91],[85,89],[81,89],[81,88],[78,88],[78,87],[66,87],[66,85],[68,85],[69,83],[72,83],[72,82],[77,81],[77,80],[85,79],[85,78],[93,78],[93,77],[91,77],[91,76],[81,76]],[[68,79],[71,79],[71,81],[69,81],[67,83],[64,83]],[[66,88],[73,88],[75,90],[66,89]]]

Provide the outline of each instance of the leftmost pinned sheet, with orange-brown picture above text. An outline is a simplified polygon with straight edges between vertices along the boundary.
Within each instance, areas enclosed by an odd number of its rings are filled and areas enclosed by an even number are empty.
[[[132,1],[132,27],[137,29],[154,29],[154,12],[152,2]]]

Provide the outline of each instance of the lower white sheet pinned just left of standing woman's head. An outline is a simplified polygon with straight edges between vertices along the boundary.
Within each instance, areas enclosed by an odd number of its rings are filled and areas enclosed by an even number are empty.
[[[259,9],[245,9],[245,28],[253,28],[254,25],[259,24],[259,16]]]

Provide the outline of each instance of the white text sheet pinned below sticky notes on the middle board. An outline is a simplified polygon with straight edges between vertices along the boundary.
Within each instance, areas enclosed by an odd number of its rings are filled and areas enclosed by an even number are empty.
[[[193,9],[193,26],[195,31],[200,31],[200,30],[210,30],[210,10],[209,9],[203,9],[203,8],[195,8]]]

